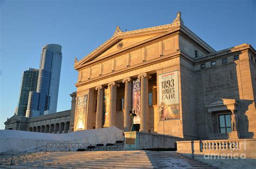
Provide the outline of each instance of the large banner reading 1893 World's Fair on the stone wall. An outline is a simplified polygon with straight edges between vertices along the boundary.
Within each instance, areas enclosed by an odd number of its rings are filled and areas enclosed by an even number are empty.
[[[178,71],[158,76],[160,120],[179,119]]]

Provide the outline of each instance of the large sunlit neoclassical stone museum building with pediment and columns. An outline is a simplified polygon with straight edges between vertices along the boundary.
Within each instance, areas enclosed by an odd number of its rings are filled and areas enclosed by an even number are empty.
[[[167,25],[126,32],[117,26],[109,40],[75,58],[74,131],[130,131],[134,110],[142,132],[255,138],[255,57],[248,44],[215,51],[184,25],[180,12]]]

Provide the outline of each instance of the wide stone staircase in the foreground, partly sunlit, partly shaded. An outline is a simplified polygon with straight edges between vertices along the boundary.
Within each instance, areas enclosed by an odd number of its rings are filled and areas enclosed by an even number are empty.
[[[0,168],[214,168],[167,151],[47,152],[14,164]]]

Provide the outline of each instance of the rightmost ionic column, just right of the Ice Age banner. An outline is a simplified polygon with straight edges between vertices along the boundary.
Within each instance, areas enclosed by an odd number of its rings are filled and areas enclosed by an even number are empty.
[[[149,78],[147,73],[138,75],[140,79],[140,131],[149,132]]]

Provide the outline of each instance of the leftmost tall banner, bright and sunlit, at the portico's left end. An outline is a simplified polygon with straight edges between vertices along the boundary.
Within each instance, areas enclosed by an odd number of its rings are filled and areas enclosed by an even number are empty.
[[[87,112],[87,94],[80,95],[77,97],[77,116],[76,116],[76,130],[85,129],[85,118]]]

